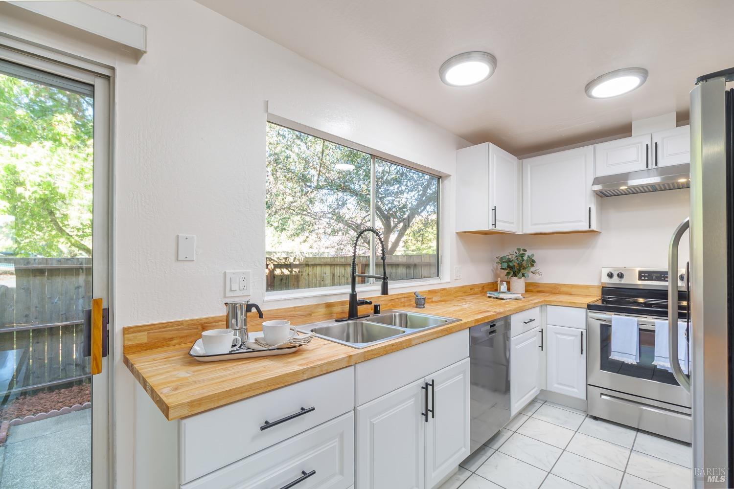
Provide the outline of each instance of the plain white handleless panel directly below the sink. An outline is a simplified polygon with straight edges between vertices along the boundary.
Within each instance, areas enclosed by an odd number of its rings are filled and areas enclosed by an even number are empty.
[[[355,405],[424,378],[469,356],[469,330],[404,348],[355,365]]]

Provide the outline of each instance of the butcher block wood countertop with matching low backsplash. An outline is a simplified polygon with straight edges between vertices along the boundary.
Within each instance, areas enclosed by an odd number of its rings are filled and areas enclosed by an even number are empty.
[[[360,350],[315,338],[290,355],[211,363],[196,361],[189,356],[189,350],[201,331],[225,326],[224,316],[215,316],[128,326],[123,329],[123,361],[164,416],[180,419],[535,306],[586,307],[600,296],[598,286],[529,282],[525,299],[500,301],[486,296],[486,291],[495,290],[495,286],[490,282],[427,290],[423,293],[427,298],[425,309],[415,309],[412,293],[377,295],[371,299],[381,304],[382,309],[413,310],[461,321]],[[360,310],[368,312],[368,307]],[[344,317],[346,301],[270,309],[264,315],[264,320],[288,319],[299,326]],[[250,331],[259,331],[262,321],[256,314],[250,314]]]

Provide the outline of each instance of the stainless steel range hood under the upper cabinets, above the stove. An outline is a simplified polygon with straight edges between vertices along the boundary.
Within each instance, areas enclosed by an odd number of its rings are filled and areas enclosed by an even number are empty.
[[[691,185],[691,164],[683,163],[596,177],[592,183],[592,191],[599,196],[612,197],[688,188],[689,185]]]

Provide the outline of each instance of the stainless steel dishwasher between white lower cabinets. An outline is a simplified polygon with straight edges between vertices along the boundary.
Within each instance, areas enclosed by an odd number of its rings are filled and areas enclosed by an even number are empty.
[[[469,329],[471,451],[509,422],[509,317]]]

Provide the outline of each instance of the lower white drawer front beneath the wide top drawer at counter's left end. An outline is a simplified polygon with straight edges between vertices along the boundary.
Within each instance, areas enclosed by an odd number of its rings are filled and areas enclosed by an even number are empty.
[[[273,489],[302,478],[297,489],[348,489],[354,484],[354,413],[281,441],[181,489]],[[313,473],[313,475],[308,474]]]

